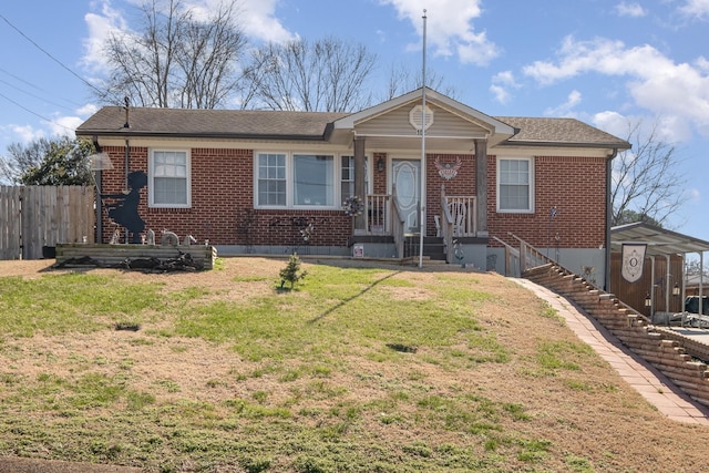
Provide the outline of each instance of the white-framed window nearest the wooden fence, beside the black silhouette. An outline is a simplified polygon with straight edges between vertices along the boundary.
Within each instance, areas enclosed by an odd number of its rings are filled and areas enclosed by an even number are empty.
[[[148,163],[148,203],[151,207],[189,207],[189,153],[152,150]]]

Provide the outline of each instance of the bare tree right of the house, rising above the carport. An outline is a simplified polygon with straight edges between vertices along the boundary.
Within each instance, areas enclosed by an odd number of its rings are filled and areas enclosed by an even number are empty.
[[[633,148],[613,162],[614,226],[638,220],[665,226],[687,199],[675,146],[659,138],[657,122],[648,132],[641,125],[628,122],[627,141]]]

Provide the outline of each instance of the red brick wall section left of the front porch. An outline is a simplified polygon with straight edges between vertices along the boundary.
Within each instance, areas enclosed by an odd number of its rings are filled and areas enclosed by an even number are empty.
[[[101,192],[117,194],[125,188],[125,148],[105,146],[113,171],[102,173]],[[130,171],[147,174],[146,147],[131,147]],[[300,230],[312,224],[309,245],[346,246],[351,218],[340,210],[254,209],[254,154],[251,150],[192,148],[192,207],[150,208],[147,188],[141,191],[138,214],[160,241],[163,229],[182,239],[193,235],[212,245],[291,245]],[[103,241],[115,224],[103,210]]]

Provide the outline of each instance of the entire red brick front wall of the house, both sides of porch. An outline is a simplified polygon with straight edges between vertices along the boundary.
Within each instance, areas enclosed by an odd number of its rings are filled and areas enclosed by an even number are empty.
[[[122,146],[106,146],[104,152],[112,160],[113,171],[104,171],[103,194],[120,193],[125,187]],[[131,147],[130,171],[147,173],[146,147]],[[352,222],[341,210],[265,210],[254,209],[254,154],[251,150],[193,148],[192,155],[192,208],[148,208],[147,188],[141,191],[138,213],[160,235],[163,229],[176,233],[181,238],[193,235],[197,241],[209,239],[214,245],[294,245],[300,230],[312,224],[309,241],[314,246],[346,246],[351,235]],[[436,157],[442,163],[454,163],[460,156],[462,166],[455,178],[445,181],[434,166]],[[373,153],[373,163],[386,153]],[[434,235],[433,216],[440,213],[441,184],[446,195],[475,195],[475,158],[473,155],[429,154],[427,156],[429,194],[428,229]],[[537,247],[562,248],[598,247],[605,240],[605,158],[537,156],[534,163],[534,214],[496,213],[496,161],[489,156],[487,216],[491,236],[507,239],[512,232]],[[387,172],[373,171],[373,191],[387,193]],[[557,215],[549,225],[549,208],[557,207]],[[103,241],[107,241],[115,225],[103,212]],[[493,240],[490,246],[495,246]]]

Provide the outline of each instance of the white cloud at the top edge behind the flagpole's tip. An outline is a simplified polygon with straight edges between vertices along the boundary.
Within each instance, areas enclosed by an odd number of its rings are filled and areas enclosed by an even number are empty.
[[[399,19],[407,19],[413,28],[423,34],[423,10],[425,0],[380,0],[391,4]],[[427,11],[427,45],[433,47],[433,53],[442,56],[458,56],[462,63],[487,64],[500,54],[500,48],[487,39],[486,33],[476,32],[472,20],[480,18],[482,0],[440,0],[435,8]],[[421,48],[421,44],[410,47]]]

